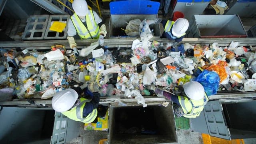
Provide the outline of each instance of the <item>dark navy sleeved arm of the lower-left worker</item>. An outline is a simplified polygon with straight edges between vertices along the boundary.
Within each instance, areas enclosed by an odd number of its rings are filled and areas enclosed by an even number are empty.
[[[93,92],[93,97],[90,102],[86,102],[83,109],[83,118],[90,114],[95,108],[98,107],[100,102],[100,94],[98,92]]]

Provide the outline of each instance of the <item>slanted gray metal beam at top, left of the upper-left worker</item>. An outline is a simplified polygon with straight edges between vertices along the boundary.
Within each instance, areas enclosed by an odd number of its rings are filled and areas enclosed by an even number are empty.
[[[30,0],[37,4],[38,6],[44,8],[52,14],[68,14],[64,10],[60,9],[58,6],[52,4],[49,0]]]

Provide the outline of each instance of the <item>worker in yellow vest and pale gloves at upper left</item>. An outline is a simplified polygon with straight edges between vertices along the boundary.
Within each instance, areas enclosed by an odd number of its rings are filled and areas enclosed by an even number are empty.
[[[74,54],[78,56],[74,37],[80,39],[98,39],[99,45],[104,45],[104,37],[107,34],[105,24],[96,12],[88,9],[85,0],[74,0],[72,8],[75,13],[68,21],[68,42]]]

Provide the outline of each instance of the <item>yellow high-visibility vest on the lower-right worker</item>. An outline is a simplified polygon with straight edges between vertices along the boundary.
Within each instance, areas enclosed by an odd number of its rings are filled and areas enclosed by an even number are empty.
[[[192,100],[186,96],[178,96],[178,100],[184,112],[184,115],[182,116],[186,118],[196,118],[200,115],[209,99],[204,93],[204,98],[201,100]]]

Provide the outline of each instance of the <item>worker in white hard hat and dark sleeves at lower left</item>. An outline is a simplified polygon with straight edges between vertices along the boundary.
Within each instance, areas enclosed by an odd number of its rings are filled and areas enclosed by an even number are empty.
[[[72,120],[86,124],[92,122],[96,123],[98,121],[97,107],[100,102],[100,94],[98,92],[91,93],[86,88],[86,93],[90,95],[92,99],[78,99],[78,93],[82,93],[82,86],[76,88],[76,90],[68,88],[57,92],[52,98],[52,108]]]

